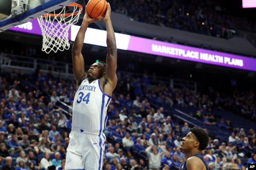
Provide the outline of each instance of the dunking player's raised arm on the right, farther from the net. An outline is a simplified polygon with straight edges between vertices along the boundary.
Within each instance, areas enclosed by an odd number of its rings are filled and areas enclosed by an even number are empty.
[[[114,90],[117,85],[117,44],[115,40],[115,32],[110,20],[111,8],[108,3],[108,10],[106,16],[104,18],[104,22],[106,23],[107,29],[107,49],[108,54],[106,58],[106,79],[111,86],[112,90]]]

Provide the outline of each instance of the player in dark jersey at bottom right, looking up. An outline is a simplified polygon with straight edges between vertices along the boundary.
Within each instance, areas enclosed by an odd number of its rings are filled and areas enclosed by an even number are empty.
[[[208,170],[204,158],[200,154],[208,146],[209,136],[202,128],[191,128],[187,136],[182,138],[180,150],[186,154],[187,160],[180,165],[180,170]]]

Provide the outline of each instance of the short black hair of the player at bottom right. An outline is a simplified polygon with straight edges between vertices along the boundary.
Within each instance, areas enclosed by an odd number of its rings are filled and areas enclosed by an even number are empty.
[[[195,136],[197,137],[197,140],[200,143],[199,149],[205,150],[206,147],[208,146],[208,142],[209,142],[208,133],[204,129],[198,128],[198,127],[190,128],[190,132],[194,133]]]

